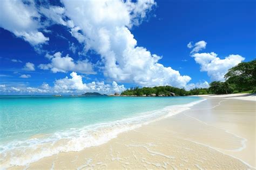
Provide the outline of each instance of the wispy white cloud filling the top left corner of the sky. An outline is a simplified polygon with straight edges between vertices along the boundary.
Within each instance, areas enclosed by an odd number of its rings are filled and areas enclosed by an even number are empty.
[[[38,45],[49,40],[42,32],[39,22],[40,15],[33,1],[2,0],[0,5],[0,27],[23,38],[31,45]]]

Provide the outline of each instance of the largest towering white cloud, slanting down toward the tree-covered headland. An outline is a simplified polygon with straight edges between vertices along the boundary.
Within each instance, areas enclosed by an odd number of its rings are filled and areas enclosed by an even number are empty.
[[[184,87],[191,80],[172,67],[159,64],[161,58],[137,46],[129,28],[138,25],[156,3],[131,1],[63,1],[65,15],[74,28],[71,34],[85,50],[96,51],[104,63],[104,75],[114,81],[143,86]]]

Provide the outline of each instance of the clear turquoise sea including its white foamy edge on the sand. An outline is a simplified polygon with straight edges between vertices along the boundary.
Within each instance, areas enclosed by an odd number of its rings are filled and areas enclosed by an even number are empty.
[[[0,161],[1,154],[6,157],[8,152],[17,152],[20,159],[18,153],[28,148],[31,153],[26,154],[31,154],[31,159],[19,160],[20,165],[34,158],[100,145],[118,133],[176,114],[180,108],[187,108],[186,104],[199,100],[199,97],[0,96]],[[38,134],[40,137],[35,137]],[[53,146],[62,139],[65,139],[62,147]],[[32,152],[42,146],[44,154]]]

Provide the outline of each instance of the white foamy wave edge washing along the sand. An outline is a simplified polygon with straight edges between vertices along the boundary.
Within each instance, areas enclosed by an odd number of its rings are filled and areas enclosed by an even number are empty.
[[[81,151],[87,147],[102,145],[116,138],[120,133],[178,114],[204,100],[167,106],[160,110],[143,112],[136,117],[109,123],[70,128],[53,134],[37,135],[27,140],[12,141],[0,145],[0,165],[2,168],[25,166],[60,152]]]

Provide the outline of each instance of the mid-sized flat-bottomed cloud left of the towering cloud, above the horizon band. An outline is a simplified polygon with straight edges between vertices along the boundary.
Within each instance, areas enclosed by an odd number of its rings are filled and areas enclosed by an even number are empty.
[[[40,64],[39,69],[51,70],[53,73],[75,71],[85,74],[96,74],[93,71],[93,66],[88,60],[78,60],[74,62],[73,58],[66,55],[62,57],[62,53],[56,52],[53,56],[47,54],[47,58],[50,59],[49,64]]]

